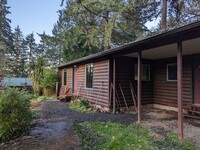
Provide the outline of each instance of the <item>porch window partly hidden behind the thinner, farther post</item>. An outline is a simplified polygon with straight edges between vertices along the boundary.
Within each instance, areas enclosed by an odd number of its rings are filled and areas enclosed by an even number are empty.
[[[150,65],[146,65],[146,64],[142,64],[142,81],[150,81]],[[135,64],[134,66],[134,73],[135,73],[135,77],[134,79],[137,80],[138,79],[138,65]]]

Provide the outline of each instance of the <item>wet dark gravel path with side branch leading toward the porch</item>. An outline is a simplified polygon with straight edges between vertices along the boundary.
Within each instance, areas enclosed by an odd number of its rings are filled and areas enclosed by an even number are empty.
[[[34,120],[36,126],[28,134],[0,145],[0,150],[78,150],[80,144],[73,130],[74,122],[129,124],[135,120],[130,114],[79,113],[57,100],[43,101],[34,107],[39,109],[39,117]]]

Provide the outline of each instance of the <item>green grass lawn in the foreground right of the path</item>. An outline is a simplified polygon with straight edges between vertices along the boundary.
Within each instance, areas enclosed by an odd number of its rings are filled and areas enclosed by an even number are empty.
[[[162,136],[137,124],[85,122],[75,128],[85,150],[199,150],[173,133]]]

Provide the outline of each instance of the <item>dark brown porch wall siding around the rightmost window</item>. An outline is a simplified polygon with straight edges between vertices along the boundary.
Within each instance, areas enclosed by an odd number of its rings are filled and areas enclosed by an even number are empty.
[[[154,103],[177,107],[177,81],[167,81],[167,64],[176,63],[176,58],[155,61],[154,68]],[[188,109],[191,104],[191,68],[190,59],[183,59],[183,107]]]

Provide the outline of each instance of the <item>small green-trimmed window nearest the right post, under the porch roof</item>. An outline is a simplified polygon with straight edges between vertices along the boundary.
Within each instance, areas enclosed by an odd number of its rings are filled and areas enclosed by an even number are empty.
[[[176,64],[167,64],[167,81],[177,81]]]

